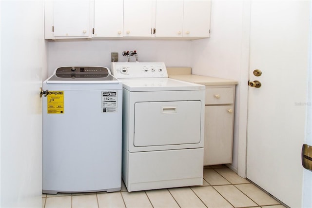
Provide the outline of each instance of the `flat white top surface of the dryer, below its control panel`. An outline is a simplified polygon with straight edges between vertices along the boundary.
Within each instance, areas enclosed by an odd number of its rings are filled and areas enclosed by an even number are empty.
[[[131,92],[205,90],[205,85],[170,78],[119,79],[119,81],[123,83],[123,88]]]

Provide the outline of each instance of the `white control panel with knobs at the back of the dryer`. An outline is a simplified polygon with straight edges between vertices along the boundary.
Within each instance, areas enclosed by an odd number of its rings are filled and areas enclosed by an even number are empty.
[[[163,62],[112,62],[116,78],[168,78]]]

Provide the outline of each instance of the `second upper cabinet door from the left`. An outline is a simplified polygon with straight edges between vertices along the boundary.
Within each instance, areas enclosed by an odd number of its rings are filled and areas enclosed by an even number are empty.
[[[123,0],[95,0],[94,37],[122,37]]]

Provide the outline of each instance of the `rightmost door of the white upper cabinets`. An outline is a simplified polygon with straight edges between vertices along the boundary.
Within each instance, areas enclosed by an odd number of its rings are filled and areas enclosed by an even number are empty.
[[[210,0],[185,0],[183,37],[210,37]]]

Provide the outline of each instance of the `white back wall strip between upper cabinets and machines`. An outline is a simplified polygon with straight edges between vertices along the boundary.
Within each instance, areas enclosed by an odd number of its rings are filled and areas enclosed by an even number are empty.
[[[52,41],[49,42],[49,75],[60,66],[97,65],[111,68],[111,52],[126,62],[122,51],[137,50],[139,62],[165,62],[166,66],[190,66],[191,41]],[[135,62],[135,56],[130,58]]]

